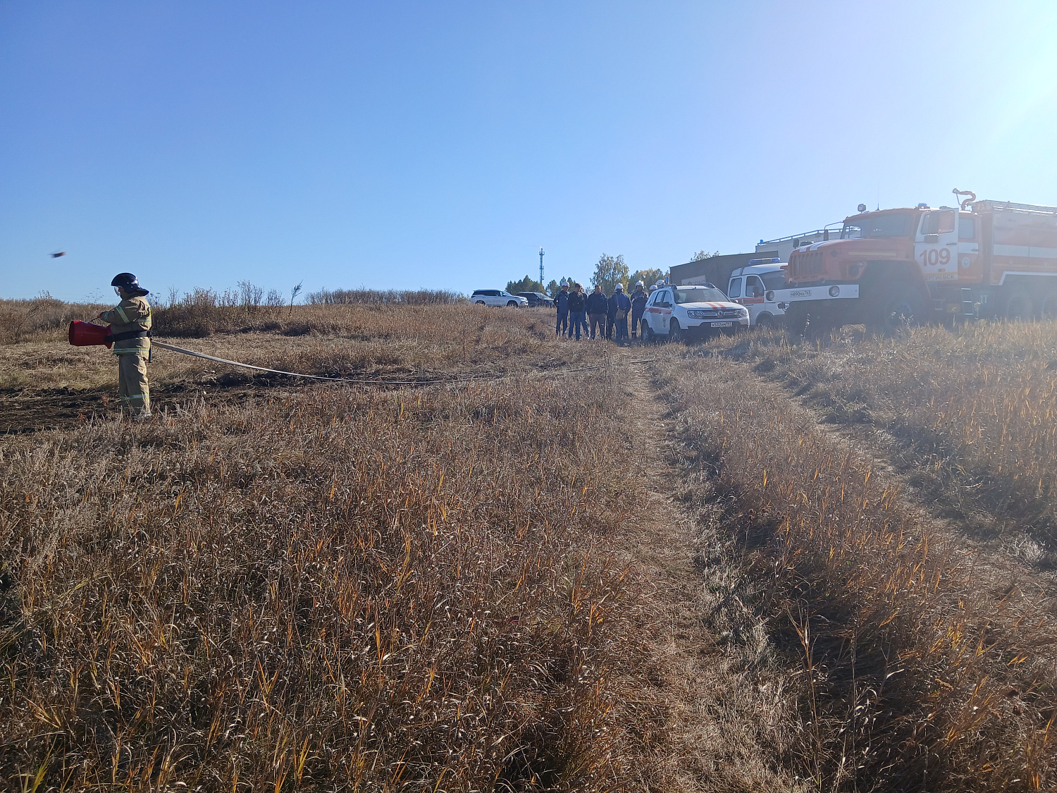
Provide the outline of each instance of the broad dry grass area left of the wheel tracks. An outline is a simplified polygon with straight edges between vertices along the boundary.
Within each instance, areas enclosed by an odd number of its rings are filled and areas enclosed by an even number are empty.
[[[387,356],[387,373],[482,382],[263,388],[8,437],[0,787],[642,778],[661,716],[619,550],[641,487],[615,431],[627,406],[600,345],[585,355],[527,312],[457,309],[334,311],[350,337],[298,358],[275,334],[268,363],[376,371],[344,344]],[[452,321],[466,333],[445,334]],[[263,361],[254,344],[239,354]],[[539,376],[542,362],[570,373]]]

